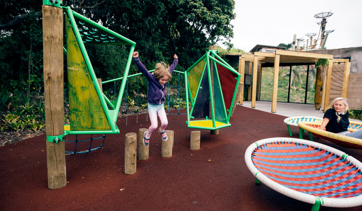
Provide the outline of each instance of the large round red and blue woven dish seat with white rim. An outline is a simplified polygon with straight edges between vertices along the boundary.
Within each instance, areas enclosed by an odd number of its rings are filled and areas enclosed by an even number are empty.
[[[312,204],[312,211],[362,205],[362,163],[332,147],[268,138],[247,148],[245,162],[257,183]]]

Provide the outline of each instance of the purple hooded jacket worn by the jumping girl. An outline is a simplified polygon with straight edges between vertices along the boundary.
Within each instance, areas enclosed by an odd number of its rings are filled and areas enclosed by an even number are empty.
[[[148,103],[153,105],[161,105],[165,102],[166,98],[166,85],[161,85],[158,79],[154,78],[153,74],[147,71],[146,67],[142,64],[138,57],[133,57],[133,61],[136,63],[140,72],[146,76],[149,81]],[[170,74],[174,72],[179,59],[175,58],[174,62],[170,66]]]

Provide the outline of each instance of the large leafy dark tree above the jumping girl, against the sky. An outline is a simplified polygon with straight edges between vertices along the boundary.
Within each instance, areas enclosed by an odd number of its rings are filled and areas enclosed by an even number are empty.
[[[232,46],[233,0],[113,0],[93,17],[137,43],[147,62],[171,60],[177,53],[190,66],[210,45]]]

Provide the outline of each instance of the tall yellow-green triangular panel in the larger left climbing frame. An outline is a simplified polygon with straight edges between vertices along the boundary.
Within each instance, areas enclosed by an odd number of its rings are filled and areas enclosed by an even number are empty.
[[[67,19],[66,19],[67,21]],[[66,24],[69,121],[72,131],[101,131],[111,127],[98,98],[91,74],[75,39]]]

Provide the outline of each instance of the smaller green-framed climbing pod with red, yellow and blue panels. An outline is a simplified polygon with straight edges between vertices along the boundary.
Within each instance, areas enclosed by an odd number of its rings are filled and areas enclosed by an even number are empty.
[[[188,128],[217,130],[231,126],[241,75],[216,53],[208,51],[185,71]]]

